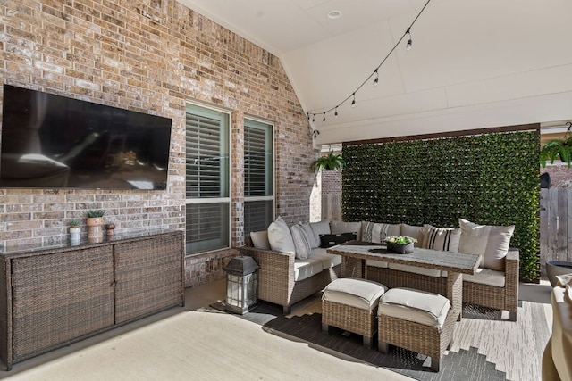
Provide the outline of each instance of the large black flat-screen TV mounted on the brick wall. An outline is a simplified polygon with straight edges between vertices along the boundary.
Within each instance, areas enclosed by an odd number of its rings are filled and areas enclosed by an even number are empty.
[[[4,85],[0,187],[166,189],[171,125]]]

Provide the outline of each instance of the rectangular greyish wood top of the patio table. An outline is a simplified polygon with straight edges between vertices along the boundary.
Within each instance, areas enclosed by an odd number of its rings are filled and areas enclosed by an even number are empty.
[[[377,253],[370,252],[375,249]],[[481,256],[469,253],[452,253],[416,247],[413,253],[395,254],[387,252],[384,244],[349,241],[327,249],[327,253],[360,260],[386,261],[425,269],[441,269],[461,274],[475,274]]]

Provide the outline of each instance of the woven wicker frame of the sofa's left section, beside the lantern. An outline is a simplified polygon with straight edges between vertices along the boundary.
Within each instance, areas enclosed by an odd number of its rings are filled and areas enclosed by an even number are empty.
[[[272,250],[242,246],[241,255],[248,255],[257,261],[258,299],[282,306],[284,314],[290,313],[291,306],[322,291],[330,282],[341,276],[341,265],[294,281],[294,254],[279,253]]]

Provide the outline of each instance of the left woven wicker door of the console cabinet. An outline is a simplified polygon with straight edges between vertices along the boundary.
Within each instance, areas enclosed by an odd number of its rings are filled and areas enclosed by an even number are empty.
[[[13,360],[114,325],[111,245],[12,260]]]

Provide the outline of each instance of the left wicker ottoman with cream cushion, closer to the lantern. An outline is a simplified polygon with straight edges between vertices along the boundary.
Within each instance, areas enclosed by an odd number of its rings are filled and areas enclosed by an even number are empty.
[[[371,280],[343,277],[324,288],[322,295],[322,331],[330,326],[362,335],[364,346],[371,348],[377,332],[377,304],[387,287]]]

